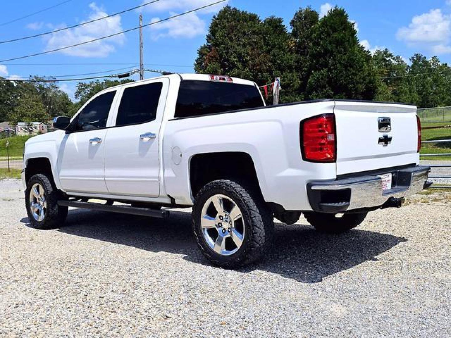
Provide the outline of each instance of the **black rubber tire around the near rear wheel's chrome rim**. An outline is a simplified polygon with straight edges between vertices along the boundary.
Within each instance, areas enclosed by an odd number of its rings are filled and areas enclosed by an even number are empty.
[[[214,251],[202,233],[202,208],[208,199],[215,195],[229,197],[241,210],[244,238],[238,251],[224,256]],[[205,185],[198,193],[193,206],[193,232],[202,254],[212,264],[225,269],[239,268],[260,259],[272,242],[274,222],[271,211],[261,195],[241,184],[229,180],[217,180]]]

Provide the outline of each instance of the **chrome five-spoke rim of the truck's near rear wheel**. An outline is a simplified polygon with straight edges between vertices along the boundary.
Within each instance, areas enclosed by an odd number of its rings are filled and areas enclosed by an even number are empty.
[[[214,195],[205,202],[201,227],[208,246],[219,255],[233,255],[243,244],[243,215],[230,197]]]

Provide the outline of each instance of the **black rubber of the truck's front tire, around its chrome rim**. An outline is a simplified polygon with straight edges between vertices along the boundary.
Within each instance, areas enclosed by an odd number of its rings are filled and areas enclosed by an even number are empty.
[[[30,205],[30,193],[32,187],[36,184],[40,184],[44,188],[46,196],[46,211],[44,219],[41,221],[34,218]],[[27,207],[28,219],[30,221],[30,227],[48,230],[59,228],[67,217],[67,206],[58,206],[58,200],[63,199],[61,192],[56,189],[51,183],[50,179],[43,174],[36,174],[29,179],[27,183],[27,189],[25,190],[25,205]]]

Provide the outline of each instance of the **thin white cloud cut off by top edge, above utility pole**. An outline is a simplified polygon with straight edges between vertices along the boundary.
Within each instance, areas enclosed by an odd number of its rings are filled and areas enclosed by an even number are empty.
[[[143,3],[148,2],[148,0],[143,0]],[[220,4],[210,6],[204,9],[201,9],[198,11],[198,13],[216,13],[219,11],[222,7],[227,5],[228,0],[225,2],[221,2]],[[211,4],[211,0],[165,0],[165,1],[159,1],[155,4],[151,4],[148,6],[145,6],[143,8],[138,9],[146,10],[147,12],[169,12],[169,11],[181,11],[184,12],[186,10],[190,9],[196,9],[199,7],[203,7],[205,5]]]

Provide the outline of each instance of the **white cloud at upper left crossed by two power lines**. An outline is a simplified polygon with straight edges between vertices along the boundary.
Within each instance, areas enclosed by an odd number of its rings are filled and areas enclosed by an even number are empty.
[[[105,17],[104,9],[99,8],[95,3],[89,5],[92,13],[86,21]],[[84,22],[86,22],[84,21]],[[66,27],[62,25],[58,28]],[[89,40],[103,37],[106,34],[114,34],[122,31],[120,15],[88,23],[87,25],[75,27],[61,32],[54,32],[50,37],[46,37],[46,50],[58,49],[64,46],[76,45]],[[122,46],[125,41],[125,35],[120,34],[109,39],[91,42],[82,46],[61,50],[60,53],[80,57],[106,57],[115,51],[115,46]]]

